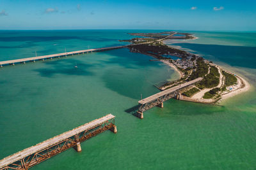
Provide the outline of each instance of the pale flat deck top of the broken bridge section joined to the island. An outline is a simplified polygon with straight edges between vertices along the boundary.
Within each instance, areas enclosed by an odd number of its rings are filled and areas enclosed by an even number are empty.
[[[170,89],[167,89],[167,90],[164,90],[164,91],[159,92],[157,94],[154,94],[152,96],[149,96],[149,97],[147,97],[145,99],[142,99],[142,100],[138,101],[138,103],[140,103],[140,104],[148,103],[148,102],[153,101],[153,100],[155,100],[155,99],[157,99],[157,98],[159,98],[161,96],[164,96],[165,94],[170,94],[171,92],[174,92],[176,90],[182,89],[183,87],[186,87],[188,85],[196,83],[197,81],[200,81],[200,80],[202,80],[202,78],[196,78],[195,80],[191,80],[191,81],[188,81],[188,82],[183,83],[181,85],[177,85],[177,86],[172,87]]]

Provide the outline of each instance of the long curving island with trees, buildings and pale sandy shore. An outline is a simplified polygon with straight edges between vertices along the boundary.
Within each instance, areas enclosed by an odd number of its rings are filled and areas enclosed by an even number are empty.
[[[155,58],[154,60],[164,62],[179,73],[179,80],[167,81],[157,87],[159,90],[170,89],[186,81],[202,78],[195,85],[182,90],[176,97],[179,100],[212,104],[250,89],[250,84],[241,76],[221,68],[202,56],[164,43],[166,39],[196,39],[193,34],[173,31],[129,34],[136,38],[120,41],[131,43],[128,46],[130,52],[150,55]]]

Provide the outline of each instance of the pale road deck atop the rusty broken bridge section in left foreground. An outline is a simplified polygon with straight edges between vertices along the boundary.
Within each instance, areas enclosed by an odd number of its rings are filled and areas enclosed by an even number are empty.
[[[4,166],[8,166],[9,164],[12,164],[13,162],[16,162],[22,158],[28,157],[29,155],[31,155],[35,152],[39,152],[40,150],[43,150],[44,148],[47,148],[47,147],[54,145],[60,141],[63,141],[64,139],[70,138],[71,136],[79,134],[80,132],[83,132],[87,129],[90,129],[90,128],[95,127],[100,124],[103,124],[104,122],[111,120],[112,118],[115,118],[115,116],[113,116],[111,114],[106,115],[105,117],[98,118],[96,120],[93,120],[92,122],[89,122],[87,124],[76,127],[75,129],[72,129],[71,131],[64,132],[63,134],[60,134],[58,136],[54,136],[53,138],[47,139],[46,141],[38,143],[35,146],[31,146],[29,148],[26,148],[26,149],[20,151],[20,152],[14,153],[13,155],[10,155],[10,156],[0,160],[0,168],[4,167]]]

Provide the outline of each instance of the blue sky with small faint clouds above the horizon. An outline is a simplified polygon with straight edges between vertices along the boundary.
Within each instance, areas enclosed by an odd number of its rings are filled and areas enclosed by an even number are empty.
[[[0,29],[256,31],[256,0],[0,0]]]

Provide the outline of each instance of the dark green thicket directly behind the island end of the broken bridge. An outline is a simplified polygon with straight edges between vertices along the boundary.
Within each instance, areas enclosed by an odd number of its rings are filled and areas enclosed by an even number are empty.
[[[203,77],[208,73],[208,65],[204,62],[204,59],[199,58],[196,60],[196,71],[193,71],[187,81],[195,80],[198,77]]]

